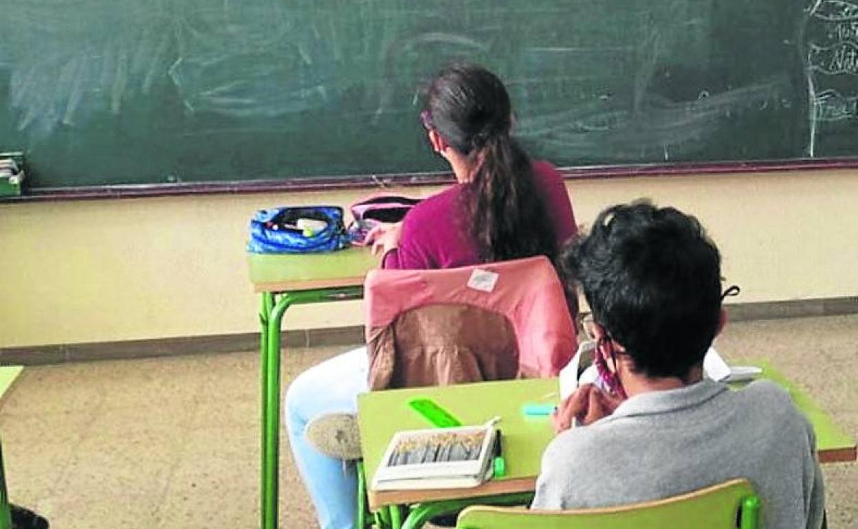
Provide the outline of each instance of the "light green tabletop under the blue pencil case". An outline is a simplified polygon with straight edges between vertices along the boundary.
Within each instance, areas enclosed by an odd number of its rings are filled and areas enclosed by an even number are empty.
[[[359,247],[319,254],[249,253],[247,261],[254,292],[361,286],[379,264],[378,255]]]

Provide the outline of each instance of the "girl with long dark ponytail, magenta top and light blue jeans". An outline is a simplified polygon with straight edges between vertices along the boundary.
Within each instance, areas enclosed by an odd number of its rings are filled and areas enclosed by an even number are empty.
[[[569,196],[559,172],[531,161],[511,137],[510,97],[498,77],[472,65],[444,70],[420,117],[457,183],[421,201],[402,223],[368,234],[373,251],[384,250],[384,268],[454,268],[533,255],[554,260],[575,231]],[[368,370],[361,347],[311,367],[287,390],[289,446],[322,529],[356,527],[356,473],[342,459],[356,444],[350,414],[368,390]],[[316,437],[325,430],[335,430],[342,446],[332,449]]]

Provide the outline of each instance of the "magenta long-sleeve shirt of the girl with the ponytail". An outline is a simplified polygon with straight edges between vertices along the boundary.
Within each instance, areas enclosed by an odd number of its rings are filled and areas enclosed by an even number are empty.
[[[536,189],[545,201],[559,244],[575,231],[575,216],[563,177],[553,165],[533,164]],[[399,247],[384,255],[384,268],[422,270],[467,267],[480,263],[477,243],[468,230],[461,184],[432,195],[402,221]]]

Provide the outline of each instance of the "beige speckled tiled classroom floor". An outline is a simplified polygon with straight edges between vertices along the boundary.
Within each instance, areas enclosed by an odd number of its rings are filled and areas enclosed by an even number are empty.
[[[858,436],[858,316],[737,323],[717,346],[770,358]],[[285,382],[343,349],[290,351]],[[0,411],[12,500],[56,529],[258,527],[258,368],[256,352],[27,368]],[[281,526],[314,527],[285,436],[282,454]],[[858,464],[824,472],[829,526],[855,529]]]

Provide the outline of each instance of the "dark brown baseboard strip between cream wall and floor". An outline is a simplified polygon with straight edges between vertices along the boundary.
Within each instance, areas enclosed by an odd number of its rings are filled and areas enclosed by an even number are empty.
[[[731,322],[838,316],[858,314],[858,297],[728,304],[726,308]],[[287,347],[354,346],[363,342],[363,326],[303,329],[283,333],[283,343]],[[152,340],[5,347],[0,348],[0,364],[62,364],[258,350],[258,333],[213,334]]]

